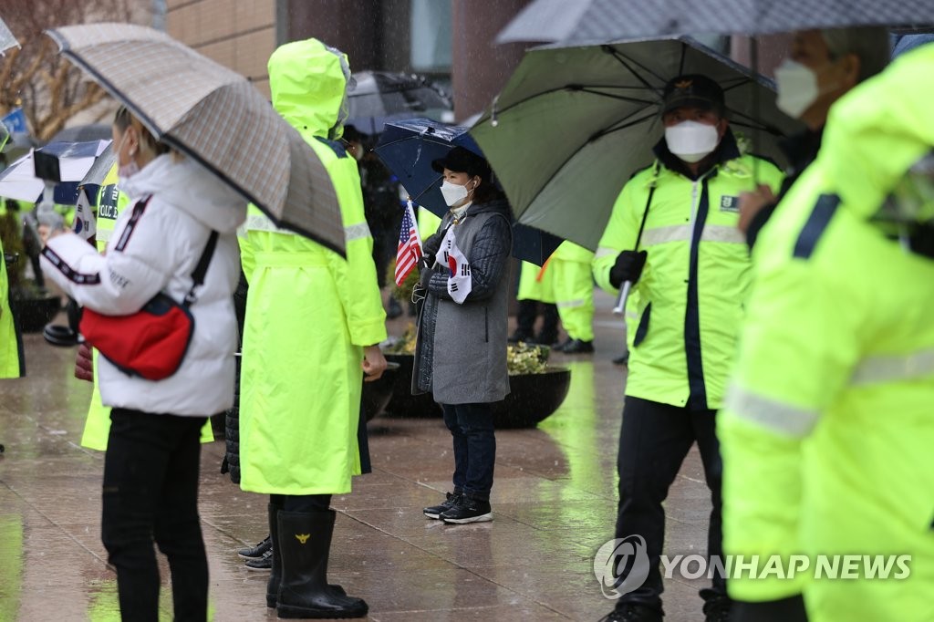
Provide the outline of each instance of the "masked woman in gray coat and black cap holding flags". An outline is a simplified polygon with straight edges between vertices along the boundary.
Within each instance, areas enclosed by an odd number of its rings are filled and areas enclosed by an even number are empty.
[[[509,392],[507,272],[512,212],[486,160],[456,147],[432,162],[450,206],[423,245],[413,393],[432,392],[454,441],[454,492],[426,507],[446,523],[492,520],[496,437],[491,403]]]

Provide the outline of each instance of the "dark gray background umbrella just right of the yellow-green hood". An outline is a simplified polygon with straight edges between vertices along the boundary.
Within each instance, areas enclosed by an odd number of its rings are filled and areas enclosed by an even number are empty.
[[[420,76],[359,71],[353,78],[347,89],[347,123],[364,134],[379,134],[392,120],[440,116],[452,107],[444,92]]]

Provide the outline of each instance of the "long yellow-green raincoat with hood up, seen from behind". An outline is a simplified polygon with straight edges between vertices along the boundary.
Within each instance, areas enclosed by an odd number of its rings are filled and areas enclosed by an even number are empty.
[[[269,59],[273,106],[331,175],[347,259],[278,231],[252,208],[241,237],[249,281],[240,376],[244,490],[339,494],[360,474],[362,347],[386,339],[373,238],[356,161],[326,139],[338,122],[342,59],[318,40],[286,44]]]

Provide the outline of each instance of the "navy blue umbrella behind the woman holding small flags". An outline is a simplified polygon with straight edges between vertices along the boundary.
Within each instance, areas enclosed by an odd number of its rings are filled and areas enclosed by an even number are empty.
[[[414,202],[444,216],[448,207],[441,194],[441,174],[432,169],[432,160],[455,147],[483,156],[467,134],[469,129],[429,119],[392,121],[386,124],[374,151]],[[562,241],[557,235],[513,222],[513,257],[517,259],[542,265]]]

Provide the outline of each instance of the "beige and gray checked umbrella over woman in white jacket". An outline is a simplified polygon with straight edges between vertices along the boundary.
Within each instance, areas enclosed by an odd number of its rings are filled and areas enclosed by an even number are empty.
[[[279,227],[344,252],[331,177],[246,78],[145,26],[96,23],[48,34],[153,135],[204,164]]]

